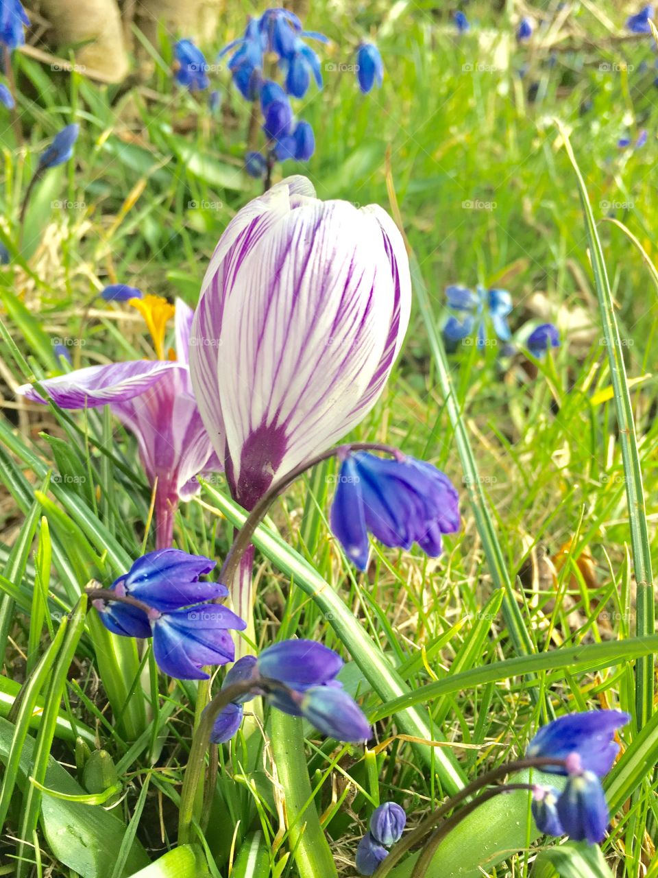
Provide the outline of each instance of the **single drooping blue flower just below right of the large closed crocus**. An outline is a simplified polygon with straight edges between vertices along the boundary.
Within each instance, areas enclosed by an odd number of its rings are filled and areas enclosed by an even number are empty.
[[[360,570],[368,566],[368,531],[391,548],[409,550],[418,543],[435,558],[442,551],[441,536],[460,527],[459,495],[432,464],[359,451],[340,466],[331,527]]]

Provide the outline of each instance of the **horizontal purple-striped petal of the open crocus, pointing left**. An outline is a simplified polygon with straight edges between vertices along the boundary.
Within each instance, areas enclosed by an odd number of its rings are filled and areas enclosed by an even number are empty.
[[[134,360],[87,366],[68,375],[46,378],[40,384],[61,408],[95,408],[139,396],[159,382],[166,372],[179,368],[177,363]],[[46,402],[32,385],[21,385],[17,393],[33,402]]]

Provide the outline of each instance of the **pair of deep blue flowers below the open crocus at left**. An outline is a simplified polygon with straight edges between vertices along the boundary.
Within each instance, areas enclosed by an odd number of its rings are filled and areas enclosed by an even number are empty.
[[[202,582],[215,562],[178,549],[138,558],[110,591],[118,600],[95,599],[105,628],[121,637],[153,637],[155,661],[178,680],[207,680],[206,665],[232,661],[230,630],[247,624],[226,607],[209,603],[228,597],[218,582]],[[122,599],[133,601],[128,603]]]

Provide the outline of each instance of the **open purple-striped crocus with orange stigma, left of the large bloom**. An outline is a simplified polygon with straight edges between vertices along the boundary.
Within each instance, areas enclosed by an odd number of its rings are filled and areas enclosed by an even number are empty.
[[[150,304],[154,343],[164,357],[162,309],[158,318],[158,309],[149,303],[149,299],[155,298],[131,301],[139,303],[140,310]],[[88,366],[40,382],[50,399],[61,408],[109,405],[112,413],[136,436],[147,479],[152,487],[157,485],[158,549],[171,544],[176,506],[179,500],[190,500],[197,493],[197,475],[219,469],[190,382],[192,315],[192,309],[178,299],[175,306],[177,359],[174,361],[161,358]],[[32,385],[22,385],[17,392],[35,402],[46,402]]]

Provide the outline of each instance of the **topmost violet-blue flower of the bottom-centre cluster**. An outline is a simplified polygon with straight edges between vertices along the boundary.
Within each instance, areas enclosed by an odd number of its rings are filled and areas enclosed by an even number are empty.
[[[314,640],[283,640],[268,646],[256,662],[258,673],[291,689],[304,690],[333,680],[343,660],[338,653]]]

